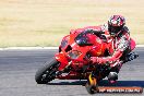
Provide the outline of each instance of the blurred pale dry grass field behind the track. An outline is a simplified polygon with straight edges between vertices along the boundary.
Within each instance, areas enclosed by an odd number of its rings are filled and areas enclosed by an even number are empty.
[[[144,44],[144,0],[0,0],[0,47],[59,46],[70,29],[127,19],[131,37]]]

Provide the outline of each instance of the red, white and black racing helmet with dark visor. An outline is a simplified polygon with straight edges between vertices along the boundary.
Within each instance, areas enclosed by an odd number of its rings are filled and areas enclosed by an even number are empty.
[[[124,25],[125,19],[122,15],[112,15],[108,21],[109,34],[111,36],[117,36]]]

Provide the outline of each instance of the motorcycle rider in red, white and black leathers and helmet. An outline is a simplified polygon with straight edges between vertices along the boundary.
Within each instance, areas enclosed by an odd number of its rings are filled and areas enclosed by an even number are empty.
[[[91,61],[94,64],[109,63],[111,69],[107,77],[110,83],[115,83],[118,80],[118,73],[124,62],[137,57],[137,55],[131,53],[135,47],[135,43],[130,38],[130,32],[125,26],[125,19],[122,15],[112,15],[105,25],[88,26],[79,31],[94,33],[95,35],[103,34],[105,36],[105,40],[108,44],[108,55],[91,57]]]

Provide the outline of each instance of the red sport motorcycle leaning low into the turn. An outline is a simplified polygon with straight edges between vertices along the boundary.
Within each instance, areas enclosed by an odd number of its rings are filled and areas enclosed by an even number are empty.
[[[98,82],[109,73],[109,64],[92,64],[91,57],[105,56],[107,44],[104,36],[89,32],[75,32],[63,37],[59,52],[51,62],[40,68],[35,75],[37,84],[46,84],[55,79],[87,80],[86,89],[98,92]],[[93,74],[100,76],[95,77]]]

